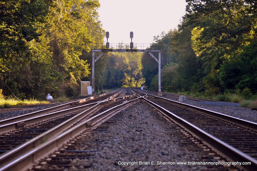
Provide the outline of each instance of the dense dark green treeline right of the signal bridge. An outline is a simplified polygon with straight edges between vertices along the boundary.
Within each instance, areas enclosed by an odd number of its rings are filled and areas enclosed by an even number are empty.
[[[245,98],[257,93],[256,2],[186,2],[178,30],[155,37],[157,43],[171,48],[163,53],[170,55],[163,65],[163,90],[203,92],[207,96],[241,93]],[[157,90],[158,71],[148,72],[147,62],[142,61],[146,83]]]

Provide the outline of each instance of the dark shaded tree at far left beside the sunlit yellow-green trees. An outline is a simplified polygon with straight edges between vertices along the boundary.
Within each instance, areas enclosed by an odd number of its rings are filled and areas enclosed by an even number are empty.
[[[33,58],[29,42],[40,41],[39,27],[51,4],[51,0],[0,2],[0,85],[5,95],[11,94],[8,87],[19,98],[31,93],[26,82],[32,78],[28,71]]]

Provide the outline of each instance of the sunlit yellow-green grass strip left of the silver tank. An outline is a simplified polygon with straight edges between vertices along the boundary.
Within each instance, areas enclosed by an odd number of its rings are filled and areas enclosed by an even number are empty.
[[[0,99],[0,108],[10,108],[13,106],[24,106],[24,105],[34,105],[34,104],[38,104],[38,103],[49,103],[48,101],[40,101],[37,99],[25,99],[25,100],[16,100],[16,99],[12,99],[12,98],[8,98],[8,99],[4,99],[1,98]]]

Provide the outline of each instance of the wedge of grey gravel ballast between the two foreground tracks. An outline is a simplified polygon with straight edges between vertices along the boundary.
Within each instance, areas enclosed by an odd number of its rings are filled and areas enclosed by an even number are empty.
[[[77,149],[94,151],[94,157],[74,159],[72,163],[90,163],[91,167],[86,170],[228,170],[222,165],[177,164],[224,160],[214,159],[219,158],[215,152],[198,140],[192,140],[192,136],[186,136],[181,132],[183,129],[165,120],[142,100],[106,122],[100,127],[108,129],[103,131],[96,128],[76,142],[79,144]],[[199,145],[195,142],[199,142]],[[43,165],[43,168],[52,167],[55,166]],[[68,171],[79,168],[62,169]]]

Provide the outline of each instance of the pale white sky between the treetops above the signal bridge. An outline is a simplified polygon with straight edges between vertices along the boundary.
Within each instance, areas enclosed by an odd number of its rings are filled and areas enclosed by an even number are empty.
[[[185,14],[185,0],[99,0],[99,20],[109,31],[108,42],[152,43],[162,31],[177,28]],[[106,38],[104,41],[106,42]]]

